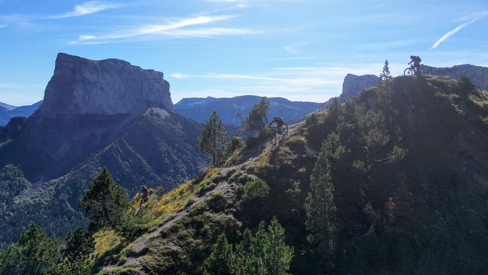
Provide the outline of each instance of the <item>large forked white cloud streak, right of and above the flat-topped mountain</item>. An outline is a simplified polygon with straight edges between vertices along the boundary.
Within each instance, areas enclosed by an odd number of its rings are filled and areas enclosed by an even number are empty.
[[[231,18],[235,18],[234,15],[221,15],[221,16],[199,16],[196,18],[188,18],[180,21],[170,22],[166,25],[152,24],[144,25],[142,27],[130,28],[117,33],[105,34],[100,36],[95,35],[80,35],[78,42],[91,42],[91,41],[110,41],[121,40],[133,37],[140,37],[144,35],[153,34],[165,34],[171,36],[209,36],[209,35],[222,35],[222,34],[245,34],[253,31],[245,29],[232,29],[232,28],[210,28],[200,30],[180,30],[179,28],[205,24],[214,21],[223,21]],[[76,42],[75,42],[76,43]]]

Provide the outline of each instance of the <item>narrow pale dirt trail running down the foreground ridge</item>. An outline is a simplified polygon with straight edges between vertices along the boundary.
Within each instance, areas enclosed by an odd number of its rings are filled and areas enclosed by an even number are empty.
[[[297,128],[297,126],[299,124],[294,124],[294,125],[288,126],[288,134],[290,134],[291,132],[293,132]],[[257,144],[253,148],[249,148],[247,150],[247,152],[243,156],[243,162],[247,162],[249,160],[252,160],[252,159],[256,158],[263,151],[272,150],[272,149],[275,149],[275,148],[281,146],[281,144],[285,140],[285,136],[286,135],[278,135],[277,141],[276,141],[276,144],[275,145],[272,145],[269,140],[266,140],[266,142],[264,144]],[[233,166],[233,167],[223,168],[223,169],[220,170],[219,175],[222,178],[226,178],[227,177],[227,173],[228,173],[229,170],[235,169],[236,167],[239,167],[241,165],[242,164],[237,165],[237,166]],[[223,180],[223,181],[219,182],[219,184],[213,190],[210,190],[210,191],[206,192],[203,196],[196,196],[195,195],[193,197],[194,202],[189,207],[186,207],[183,211],[176,213],[174,216],[172,216],[171,218],[169,218],[168,220],[166,220],[162,225],[160,225],[158,228],[156,228],[156,230],[154,230],[153,232],[148,233],[148,234],[142,236],[136,242],[132,243],[132,247],[130,248],[130,250],[131,250],[132,253],[136,254],[136,256],[127,257],[127,259],[125,260],[125,262],[123,264],[121,264],[121,265],[107,265],[107,266],[104,266],[104,267],[102,267],[100,269],[100,272],[109,271],[109,270],[112,270],[114,268],[124,268],[124,267],[136,267],[136,266],[140,266],[140,261],[141,261],[142,257],[145,254],[145,253],[143,253],[143,249],[147,246],[147,243],[148,243],[148,241],[149,241],[149,239],[151,237],[154,237],[154,236],[158,235],[159,233],[161,233],[163,231],[163,229],[168,228],[171,225],[173,225],[182,216],[186,215],[188,213],[188,210],[189,209],[191,209],[197,203],[203,201],[210,194],[215,193],[215,192],[219,192],[219,191],[220,192],[223,192],[224,194],[225,193],[229,193],[229,192],[233,192],[234,190],[233,190],[232,186],[233,186],[233,184],[229,184],[227,181]]]

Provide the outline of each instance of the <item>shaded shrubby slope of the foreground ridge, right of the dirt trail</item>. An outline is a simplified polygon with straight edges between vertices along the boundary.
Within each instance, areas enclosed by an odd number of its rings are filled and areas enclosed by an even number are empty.
[[[370,88],[357,102],[346,102],[339,117],[332,110],[321,112],[317,121],[294,126],[277,146],[265,140],[248,144],[225,173],[192,183],[212,192],[225,182],[235,191],[207,193],[145,246],[133,249],[132,242],[122,242],[107,250],[110,260],[98,267],[105,274],[202,274],[217,235],[225,232],[236,243],[242,239],[238,230],[255,232],[261,221],[276,216],[286,243],[295,248],[292,274],[483,274],[488,93],[431,76],[400,76],[392,89],[391,109],[381,109],[378,88]],[[380,126],[389,133],[383,142],[388,147],[374,140]],[[337,242],[325,264],[307,241],[304,207],[313,191],[314,154],[323,141],[337,209]],[[393,146],[404,148],[405,156],[389,155]],[[257,185],[257,179],[264,184]],[[156,210],[148,205],[146,211]]]

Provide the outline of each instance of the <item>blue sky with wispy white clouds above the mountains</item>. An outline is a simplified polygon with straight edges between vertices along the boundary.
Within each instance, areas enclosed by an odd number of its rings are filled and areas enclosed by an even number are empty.
[[[59,52],[164,73],[173,103],[325,102],[347,73],[488,66],[486,0],[0,0],[0,102],[42,99]]]

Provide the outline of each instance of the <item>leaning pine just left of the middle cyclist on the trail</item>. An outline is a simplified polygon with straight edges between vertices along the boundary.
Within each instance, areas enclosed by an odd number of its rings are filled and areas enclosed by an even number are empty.
[[[243,119],[240,113],[237,116],[241,119],[242,125],[241,129],[243,132],[249,131],[252,134],[261,132],[268,124],[268,108],[269,99],[267,97],[262,97],[259,103],[256,103],[252,109],[249,111],[249,116]]]

